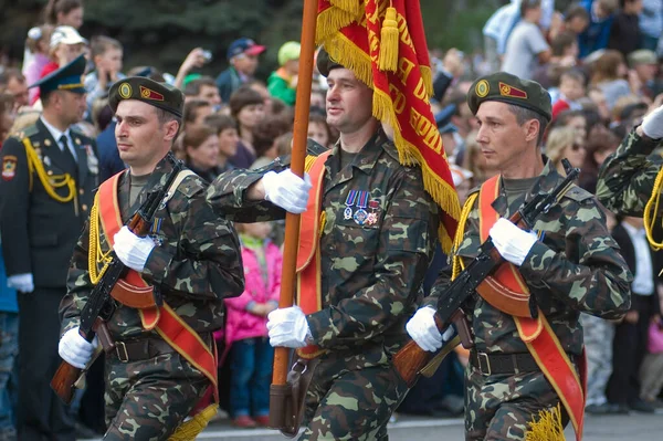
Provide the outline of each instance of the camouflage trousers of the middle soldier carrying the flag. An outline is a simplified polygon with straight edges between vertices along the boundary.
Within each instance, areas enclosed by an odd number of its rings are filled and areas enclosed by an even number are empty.
[[[322,360],[306,396],[303,440],[388,440],[387,423],[408,387],[391,365],[358,370]]]

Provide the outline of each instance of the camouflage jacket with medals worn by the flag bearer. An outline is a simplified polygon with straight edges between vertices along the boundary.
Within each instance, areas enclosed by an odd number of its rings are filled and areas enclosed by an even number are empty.
[[[432,259],[439,214],[424,192],[421,170],[401,166],[396,147],[381,132],[343,170],[339,148],[334,147],[325,164],[323,183],[323,308],[307,319],[318,346],[341,357],[355,356],[358,367],[367,367],[387,363],[404,340],[404,324]],[[282,218],[283,210],[266,201],[246,201],[244,192],[264,172],[278,171],[286,162],[277,159],[262,170],[222,175],[209,188],[208,200],[235,220]],[[376,223],[360,225],[344,217],[350,190],[369,193]]]

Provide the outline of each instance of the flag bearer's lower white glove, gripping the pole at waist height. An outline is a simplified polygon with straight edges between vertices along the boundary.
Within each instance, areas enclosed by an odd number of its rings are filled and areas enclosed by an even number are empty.
[[[270,345],[283,347],[304,347],[311,338],[306,316],[299,306],[274,309],[267,315]]]

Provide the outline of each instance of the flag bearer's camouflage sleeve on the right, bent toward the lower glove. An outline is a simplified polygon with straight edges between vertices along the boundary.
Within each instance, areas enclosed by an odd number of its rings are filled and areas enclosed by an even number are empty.
[[[375,283],[307,316],[318,346],[371,339],[411,313],[432,259],[439,222],[436,207],[421,182],[421,174],[407,169],[394,179],[379,234]],[[349,253],[338,259],[352,258]]]

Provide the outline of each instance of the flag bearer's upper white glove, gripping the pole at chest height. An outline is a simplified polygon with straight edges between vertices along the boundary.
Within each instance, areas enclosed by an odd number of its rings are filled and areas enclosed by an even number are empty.
[[[262,178],[265,187],[265,199],[291,213],[299,214],[306,211],[311,177],[304,174],[304,179],[293,174],[291,169],[281,172],[270,171]]]

